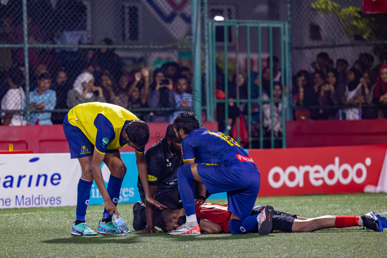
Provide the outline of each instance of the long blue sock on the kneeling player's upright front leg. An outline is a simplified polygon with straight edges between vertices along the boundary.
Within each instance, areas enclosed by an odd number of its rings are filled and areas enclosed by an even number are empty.
[[[177,170],[177,183],[179,185],[180,198],[182,198],[185,215],[195,213],[195,186],[191,164],[185,164]],[[196,218],[195,218],[196,220]]]

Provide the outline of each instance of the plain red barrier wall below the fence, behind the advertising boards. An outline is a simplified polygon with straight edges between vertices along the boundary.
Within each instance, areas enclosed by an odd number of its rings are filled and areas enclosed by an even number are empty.
[[[149,123],[150,143],[164,135],[167,125]],[[206,122],[204,126],[217,130],[217,123]],[[287,147],[387,144],[387,119],[288,121],[286,137]],[[10,143],[15,150],[33,150],[34,153],[68,152],[62,125],[0,126],[0,150],[7,150]],[[152,144],[147,148],[150,146]],[[122,151],[132,151],[132,148],[125,147]]]

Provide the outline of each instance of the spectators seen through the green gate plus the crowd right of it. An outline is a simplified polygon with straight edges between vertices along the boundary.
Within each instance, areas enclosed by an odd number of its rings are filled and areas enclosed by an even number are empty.
[[[239,117],[240,136],[247,138],[247,103],[236,106],[237,91],[241,100],[248,98],[248,87],[252,100],[266,101],[273,94],[273,107],[269,103],[262,104],[262,127],[264,146],[270,146],[271,130],[274,132],[275,146],[281,146],[282,111],[287,99],[281,101],[283,91],[289,93],[290,108],[296,120],[361,120],[370,118],[387,118],[387,59],[380,57],[381,64],[375,64],[369,53],[361,53],[350,67],[345,59],[330,59],[327,53],[319,53],[316,61],[311,64],[311,70],[301,70],[293,76],[292,92],[281,84],[279,59],[273,56],[271,92],[270,67],[262,68],[262,76],[251,72],[251,79],[247,80],[244,72],[239,72],[228,82],[228,118],[224,117],[225,104],[218,103],[217,121],[219,130],[227,128],[231,135],[236,135],[236,123]],[[266,60],[270,63],[270,59]],[[249,83],[248,83],[249,82]],[[262,96],[259,96],[262,83]],[[224,73],[216,67],[216,98],[225,99],[226,94]],[[271,111],[272,110],[272,111]],[[272,116],[271,116],[272,112]],[[260,118],[259,104],[252,102],[252,137],[259,137]],[[271,120],[273,119],[273,121]],[[253,147],[257,147],[257,140],[253,140]]]

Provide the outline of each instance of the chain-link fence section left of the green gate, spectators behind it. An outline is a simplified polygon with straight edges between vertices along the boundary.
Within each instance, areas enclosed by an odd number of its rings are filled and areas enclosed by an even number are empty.
[[[177,77],[192,86],[190,14],[190,1],[2,1],[2,123],[62,123],[91,101],[170,121]]]

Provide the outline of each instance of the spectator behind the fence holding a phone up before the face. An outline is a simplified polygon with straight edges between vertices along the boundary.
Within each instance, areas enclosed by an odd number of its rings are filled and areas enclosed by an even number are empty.
[[[153,82],[149,86],[147,103],[150,108],[173,108],[176,104],[173,96],[173,83],[164,76],[163,70],[156,69],[153,73]],[[172,111],[153,112],[154,122],[168,122],[172,118]]]

